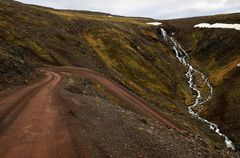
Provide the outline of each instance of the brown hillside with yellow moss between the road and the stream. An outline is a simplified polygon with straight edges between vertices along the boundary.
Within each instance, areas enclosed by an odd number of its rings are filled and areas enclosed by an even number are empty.
[[[191,103],[184,68],[146,19],[11,1],[1,2],[0,17],[2,90],[25,83],[33,68],[73,65],[113,78],[156,107],[181,111]]]

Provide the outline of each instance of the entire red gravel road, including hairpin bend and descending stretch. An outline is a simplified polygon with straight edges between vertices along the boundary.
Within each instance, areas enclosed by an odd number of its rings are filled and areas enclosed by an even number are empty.
[[[102,75],[72,67],[53,68],[46,71],[46,77],[41,82],[0,97],[1,158],[79,157],[69,129],[58,111],[60,101],[56,100],[56,96],[57,85],[62,80],[60,72],[92,79],[134,106],[137,111],[179,129],[141,98]]]

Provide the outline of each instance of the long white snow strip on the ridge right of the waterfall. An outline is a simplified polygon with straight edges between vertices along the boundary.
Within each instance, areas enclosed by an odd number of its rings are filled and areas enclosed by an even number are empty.
[[[224,24],[224,23],[200,23],[194,26],[194,28],[223,28],[223,29],[235,29],[240,30],[240,24]]]

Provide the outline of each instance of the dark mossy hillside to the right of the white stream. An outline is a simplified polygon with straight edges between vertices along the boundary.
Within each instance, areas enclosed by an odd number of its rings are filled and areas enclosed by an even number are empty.
[[[216,15],[163,21],[175,32],[193,64],[205,72],[214,86],[214,98],[202,113],[218,123],[239,148],[240,112],[240,31],[234,29],[194,28],[199,23],[240,23],[240,14]]]

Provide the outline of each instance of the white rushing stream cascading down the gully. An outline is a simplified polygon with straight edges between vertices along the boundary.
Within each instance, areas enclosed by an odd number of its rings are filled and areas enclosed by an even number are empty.
[[[196,92],[196,99],[193,105],[188,107],[188,111],[189,113],[198,118],[199,120],[201,120],[202,122],[205,122],[209,125],[209,128],[213,131],[215,131],[219,136],[223,137],[225,140],[225,144],[228,148],[231,148],[233,150],[235,150],[235,146],[232,143],[232,141],[223,133],[220,132],[220,129],[218,128],[218,126],[215,123],[212,123],[202,117],[199,116],[199,114],[197,112],[194,112],[194,108],[196,107],[201,107],[205,102],[207,102],[208,100],[210,100],[212,98],[213,95],[213,87],[211,86],[210,82],[208,81],[208,78],[200,71],[196,70],[189,62],[189,56],[186,53],[186,51],[181,47],[181,45],[179,43],[177,43],[177,41],[169,36],[167,34],[167,32],[161,28],[161,33],[162,33],[162,37],[164,38],[164,40],[172,47],[172,49],[175,51],[176,53],[176,57],[178,58],[178,60],[184,64],[187,68],[188,71],[186,73],[186,77],[188,79],[188,84],[189,87]],[[194,76],[196,74],[200,74],[202,77],[202,80],[206,83],[206,85],[209,88],[209,94],[208,97],[206,99],[203,98],[201,90],[199,90],[198,88],[198,83],[196,83],[194,81]]]

